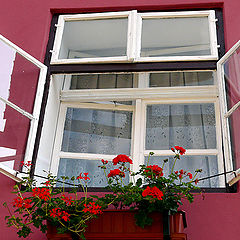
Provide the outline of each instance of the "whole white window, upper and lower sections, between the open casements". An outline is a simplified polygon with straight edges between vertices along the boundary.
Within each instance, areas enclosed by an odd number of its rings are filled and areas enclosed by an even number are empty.
[[[187,149],[177,168],[202,168],[203,177],[223,173],[222,142],[229,131],[220,109],[226,102],[219,101],[224,96],[216,69],[196,64],[218,59],[215,23],[214,11],[59,16],[35,174],[89,172],[89,186],[101,187],[106,184],[101,159],[127,154],[136,171],[154,152],[151,163],[168,158],[171,169],[175,145]],[[121,67],[171,61],[195,67],[131,72]],[[111,63],[122,71],[111,71]],[[61,70],[54,71],[57,67]],[[232,170],[232,159],[225,155],[225,161]],[[221,188],[225,178],[199,184]]]

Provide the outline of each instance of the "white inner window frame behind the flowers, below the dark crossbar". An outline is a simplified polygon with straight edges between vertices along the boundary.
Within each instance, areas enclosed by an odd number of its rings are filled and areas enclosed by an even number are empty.
[[[200,72],[199,70],[196,70]],[[202,70],[204,71],[204,70]],[[213,70],[205,70],[212,71]],[[156,71],[155,71],[156,72]],[[162,71],[161,71],[162,72]],[[177,71],[167,71],[177,72]],[[194,71],[184,71],[194,72]],[[150,72],[149,72],[150,73]],[[143,76],[149,73],[137,73]],[[113,72],[114,74],[114,72]],[[53,77],[54,79],[54,77]],[[220,107],[218,98],[218,87],[216,85],[216,76],[214,76],[214,85],[207,86],[180,86],[180,87],[148,87],[148,84],[142,84],[139,88],[124,88],[124,89],[89,89],[89,90],[62,90],[60,93],[60,114],[57,126],[57,135],[55,137],[55,146],[53,150],[52,163],[50,171],[57,175],[60,158],[70,159],[88,159],[88,160],[112,160],[115,155],[104,154],[87,154],[87,153],[68,153],[61,152],[62,137],[64,131],[64,123],[67,107],[76,108],[93,108],[93,109],[111,109],[111,110],[126,110],[133,111],[132,122],[132,152],[131,157],[134,163],[131,167],[133,171],[139,170],[139,165],[144,163],[144,156],[153,151],[155,156],[172,156],[174,153],[171,150],[146,150],[145,149],[145,134],[146,134],[146,106],[148,104],[183,104],[183,103],[213,103],[215,106],[215,121],[216,121],[216,149],[192,149],[187,150],[187,156],[204,156],[214,155],[218,159],[218,169],[224,171],[223,153],[222,153],[222,133],[220,121]],[[94,94],[93,94],[94,91]],[[89,102],[96,101],[135,101],[135,105],[105,105]],[[221,187],[225,187],[224,177],[219,178]]]

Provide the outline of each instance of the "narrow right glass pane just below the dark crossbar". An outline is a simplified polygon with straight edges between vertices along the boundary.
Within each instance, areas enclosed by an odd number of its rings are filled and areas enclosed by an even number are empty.
[[[151,73],[149,87],[204,86],[214,84],[214,72]]]

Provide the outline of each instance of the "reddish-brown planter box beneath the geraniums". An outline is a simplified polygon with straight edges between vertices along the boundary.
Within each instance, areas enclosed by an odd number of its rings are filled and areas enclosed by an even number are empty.
[[[134,211],[106,210],[97,219],[93,219],[87,228],[87,240],[163,240],[163,219],[160,213],[153,213],[154,222],[144,229],[136,226]],[[170,233],[172,240],[185,240],[183,233],[183,215],[170,216]],[[70,234],[57,234],[56,229],[48,227],[49,240],[71,240]]]

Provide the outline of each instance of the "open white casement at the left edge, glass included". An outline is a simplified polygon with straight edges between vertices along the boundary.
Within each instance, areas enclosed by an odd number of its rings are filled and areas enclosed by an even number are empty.
[[[0,35],[0,172],[31,162],[47,67]],[[17,169],[17,170],[16,170]]]

